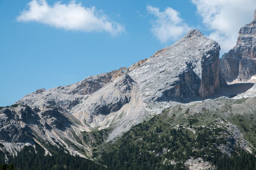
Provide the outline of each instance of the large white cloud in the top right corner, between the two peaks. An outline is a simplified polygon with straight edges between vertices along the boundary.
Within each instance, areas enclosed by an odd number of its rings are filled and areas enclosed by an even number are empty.
[[[224,52],[236,45],[238,31],[253,20],[255,0],[191,0],[212,38]]]

